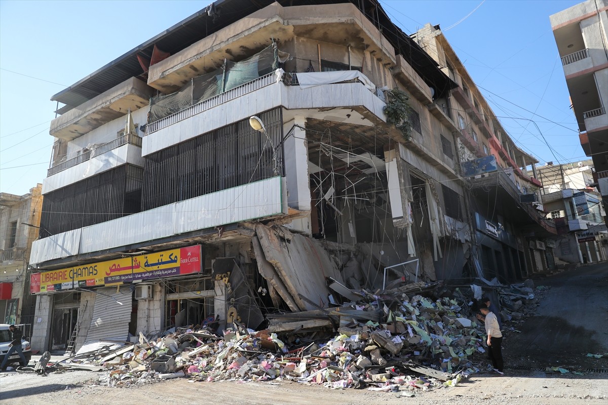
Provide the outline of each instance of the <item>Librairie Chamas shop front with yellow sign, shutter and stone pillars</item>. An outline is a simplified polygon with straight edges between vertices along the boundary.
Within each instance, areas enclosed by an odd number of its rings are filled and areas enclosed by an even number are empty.
[[[34,273],[30,292],[47,302],[36,305],[36,333],[47,335],[48,349],[74,352],[165,325],[202,324],[213,316],[214,291],[201,253],[195,245]]]

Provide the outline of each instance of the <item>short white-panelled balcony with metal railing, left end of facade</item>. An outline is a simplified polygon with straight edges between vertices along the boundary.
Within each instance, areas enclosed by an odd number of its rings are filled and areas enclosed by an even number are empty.
[[[142,138],[122,135],[47,170],[43,194],[127,163],[143,167]]]

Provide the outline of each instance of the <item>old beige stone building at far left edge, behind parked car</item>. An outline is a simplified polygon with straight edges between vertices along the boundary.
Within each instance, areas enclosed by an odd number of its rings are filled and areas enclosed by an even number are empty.
[[[35,298],[29,293],[29,257],[38,238],[42,185],[28,194],[0,192],[0,323],[27,324],[30,332]]]

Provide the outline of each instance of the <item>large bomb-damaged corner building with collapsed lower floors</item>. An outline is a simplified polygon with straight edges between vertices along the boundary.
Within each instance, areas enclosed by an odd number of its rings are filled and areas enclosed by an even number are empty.
[[[33,347],[541,266],[536,161],[418,40],[376,0],[223,0],[54,95]]]

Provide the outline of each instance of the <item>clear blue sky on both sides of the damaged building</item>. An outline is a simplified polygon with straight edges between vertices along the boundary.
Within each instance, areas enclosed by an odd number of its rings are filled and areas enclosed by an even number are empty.
[[[578,1],[381,3],[406,33],[427,22],[440,24],[471,77],[487,89],[482,92],[494,113],[505,117],[500,118],[503,126],[525,151],[541,162],[586,158],[549,22],[551,14]],[[53,143],[49,123],[56,109],[52,95],[207,4],[0,1],[0,191],[25,194],[46,177]]]

